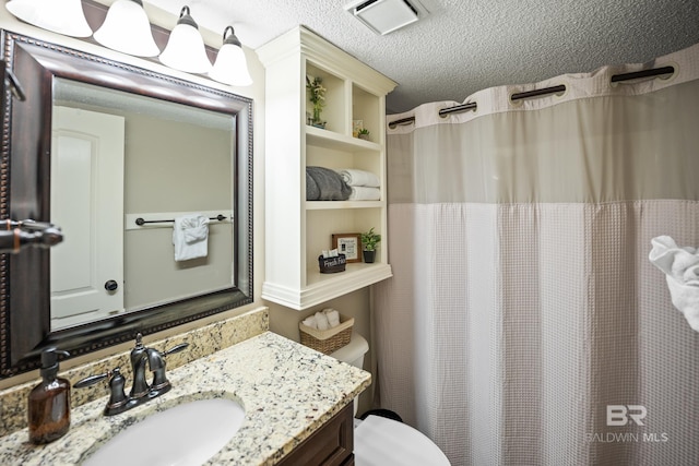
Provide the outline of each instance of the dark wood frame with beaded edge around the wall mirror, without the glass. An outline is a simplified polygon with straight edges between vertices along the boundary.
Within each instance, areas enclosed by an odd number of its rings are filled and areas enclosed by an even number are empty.
[[[4,65],[26,100],[3,87],[0,219],[50,222],[50,147],[55,76],[235,117],[234,254],[236,286],[98,322],[50,330],[49,250],[0,255],[0,378],[39,366],[42,348],[71,357],[128,342],[252,302],[252,100],[150,70],[0,31]],[[4,67],[0,69],[4,83]]]

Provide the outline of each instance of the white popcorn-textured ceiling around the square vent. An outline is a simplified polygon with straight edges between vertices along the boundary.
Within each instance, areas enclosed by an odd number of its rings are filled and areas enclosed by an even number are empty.
[[[182,2],[146,0],[173,14]],[[252,49],[303,24],[399,83],[389,113],[476,91],[649,61],[699,43],[699,0],[419,0],[429,14],[379,36],[352,0],[189,0]]]

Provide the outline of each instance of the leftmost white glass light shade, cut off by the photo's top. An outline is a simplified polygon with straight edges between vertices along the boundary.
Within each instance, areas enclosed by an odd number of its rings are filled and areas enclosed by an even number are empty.
[[[10,13],[34,26],[72,37],[90,37],[81,0],[12,0]]]

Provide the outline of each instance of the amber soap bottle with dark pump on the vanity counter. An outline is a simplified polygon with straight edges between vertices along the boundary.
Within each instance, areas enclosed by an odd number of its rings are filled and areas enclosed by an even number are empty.
[[[49,443],[63,437],[70,428],[70,382],[57,377],[58,355],[68,351],[48,347],[42,351],[42,382],[29,393],[29,442]]]

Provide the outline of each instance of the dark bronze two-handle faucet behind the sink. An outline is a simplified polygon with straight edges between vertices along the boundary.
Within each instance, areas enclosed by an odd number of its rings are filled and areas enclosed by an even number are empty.
[[[154,348],[143,346],[143,336],[139,333],[135,337],[135,346],[131,349],[131,369],[133,371],[133,384],[127,397],[125,392],[126,379],[119,368],[98,375],[90,375],[78,381],[73,386],[82,389],[93,385],[100,380],[109,379],[109,401],[105,407],[105,416],[114,416],[127,411],[135,406],[146,403],[167,393],[173,385],[165,377],[165,358],[174,353],[187,348],[189,344],[182,343],[161,353]],[[145,367],[153,372],[153,382],[146,381]]]

